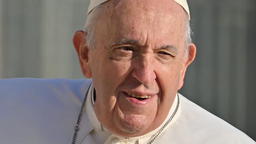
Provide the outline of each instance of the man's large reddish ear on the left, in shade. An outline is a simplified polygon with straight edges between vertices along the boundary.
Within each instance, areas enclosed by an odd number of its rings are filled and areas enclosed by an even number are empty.
[[[91,78],[91,63],[89,61],[89,49],[86,46],[85,32],[82,30],[76,31],[72,41],[83,76]]]

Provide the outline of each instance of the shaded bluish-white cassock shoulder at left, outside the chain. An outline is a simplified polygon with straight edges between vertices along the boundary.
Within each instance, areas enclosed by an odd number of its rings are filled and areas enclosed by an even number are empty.
[[[90,83],[89,79],[1,79],[0,144],[71,143]],[[87,121],[83,131],[93,129]]]

